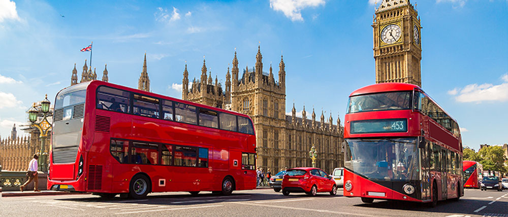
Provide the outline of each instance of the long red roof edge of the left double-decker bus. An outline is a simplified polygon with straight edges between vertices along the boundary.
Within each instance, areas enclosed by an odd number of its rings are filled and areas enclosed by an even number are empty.
[[[146,92],[144,90],[138,90],[138,89],[134,89],[134,88],[130,88],[130,87],[122,86],[122,85],[117,85],[117,84],[113,84],[113,83],[109,83],[109,82],[103,82],[103,81],[99,81],[99,80],[94,80],[94,81],[91,81],[91,82],[89,82],[88,84],[85,84],[85,85],[89,86],[91,84],[96,85],[96,86],[106,85],[106,86],[110,86],[110,87],[114,87],[114,88],[119,88],[119,89],[126,90],[126,91],[131,91],[131,92],[140,93],[140,94],[144,94],[144,95],[159,97],[159,98],[162,98],[162,99],[168,99],[168,100],[171,100],[171,101],[181,102],[181,103],[185,103],[185,104],[190,104],[190,105],[194,105],[194,106],[198,106],[198,107],[202,107],[202,108],[208,108],[210,110],[230,113],[230,114],[234,114],[234,115],[238,115],[238,116],[242,116],[242,117],[246,117],[246,118],[250,119],[250,117],[248,115],[245,115],[245,114],[242,114],[242,113],[237,113],[237,112],[234,112],[234,111],[224,110],[222,108],[208,106],[208,105],[205,105],[205,104],[200,104],[200,103],[191,102],[191,101],[187,101],[187,100],[177,99],[177,98],[173,98],[171,96],[165,96],[165,95],[161,95],[161,94],[157,94],[157,93]],[[80,84],[77,84],[77,85],[80,85]]]

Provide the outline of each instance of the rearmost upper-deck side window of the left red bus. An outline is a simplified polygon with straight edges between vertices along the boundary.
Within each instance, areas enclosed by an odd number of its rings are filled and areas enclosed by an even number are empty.
[[[115,112],[129,112],[130,93],[109,87],[99,87],[97,90],[97,108]]]

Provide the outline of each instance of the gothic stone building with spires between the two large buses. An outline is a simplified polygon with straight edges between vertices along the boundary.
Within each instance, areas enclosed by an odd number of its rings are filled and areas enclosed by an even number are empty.
[[[293,104],[292,115],[285,115],[285,65],[280,58],[278,82],[275,81],[272,67],[269,73],[263,71],[260,48],[256,55],[255,67],[246,67],[239,74],[238,59],[233,58],[233,67],[228,67],[225,89],[213,83],[211,74],[207,77],[205,61],[201,68],[201,78],[193,80],[189,88],[187,65],[183,71],[182,98],[201,104],[223,107],[232,111],[247,114],[254,123],[258,147],[258,166],[274,173],[285,167],[311,166],[309,151],[316,147],[316,166],[331,172],[335,167],[343,166],[343,127],[340,119],[333,125],[333,119],[325,122],[321,112],[321,121],[307,120],[305,106],[303,118],[296,117]],[[241,76],[241,77],[240,77]]]

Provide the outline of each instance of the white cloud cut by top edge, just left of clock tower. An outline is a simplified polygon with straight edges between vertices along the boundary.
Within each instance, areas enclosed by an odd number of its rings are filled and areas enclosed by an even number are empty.
[[[292,21],[303,21],[301,13],[303,9],[321,5],[325,5],[324,0],[270,0],[270,8],[281,11]]]

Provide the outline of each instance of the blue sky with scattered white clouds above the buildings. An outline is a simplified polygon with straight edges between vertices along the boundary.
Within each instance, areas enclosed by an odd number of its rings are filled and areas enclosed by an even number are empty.
[[[414,3],[414,1],[411,1]],[[203,56],[224,83],[235,48],[252,67],[286,65],[286,112],[322,109],[344,119],[348,95],[373,84],[374,1],[12,1],[0,0],[0,136],[25,122],[27,107],[53,102],[78,76],[93,41],[99,78],[137,87],[147,54],[151,90],[181,98]],[[422,86],[462,128],[463,143],[508,143],[508,1],[419,1]],[[65,17],[62,17],[65,16]],[[88,60],[89,61],[89,60]],[[310,116],[308,115],[308,118]],[[18,130],[19,131],[19,130]]]

